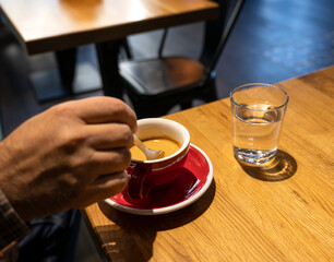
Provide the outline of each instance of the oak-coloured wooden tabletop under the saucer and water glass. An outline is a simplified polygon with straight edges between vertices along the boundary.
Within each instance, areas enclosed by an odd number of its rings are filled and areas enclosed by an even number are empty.
[[[234,157],[228,98],[167,117],[206,152],[214,182],[195,203],[165,215],[86,207],[108,260],[333,261],[334,67],[277,85],[290,102],[267,168]]]

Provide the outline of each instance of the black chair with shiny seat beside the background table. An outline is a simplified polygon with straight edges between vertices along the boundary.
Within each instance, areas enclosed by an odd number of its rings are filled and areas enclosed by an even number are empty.
[[[215,66],[238,17],[243,0],[215,0],[219,17],[205,22],[204,44],[199,61],[187,57],[164,57],[165,29],[158,57],[120,62],[122,87],[138,118],[166,115],[174,106],[190,108],[192,100],[217,99]]]

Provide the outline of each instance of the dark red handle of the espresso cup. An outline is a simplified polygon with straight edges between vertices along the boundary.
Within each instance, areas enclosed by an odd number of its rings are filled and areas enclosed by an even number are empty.
[[[128,182],[129,196],[135,200],[146,199],[151,191],[147,177],[151,175],[152,168],[141,163],[131,163],[127,171],[130,175]]]

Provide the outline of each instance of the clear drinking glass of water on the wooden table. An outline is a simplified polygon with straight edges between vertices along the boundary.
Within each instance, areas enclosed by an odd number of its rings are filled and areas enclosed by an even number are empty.
[[[261,165],[274,158],[288,100],[284,90],[270,84],[246,84],[230,93],[237,159]]]

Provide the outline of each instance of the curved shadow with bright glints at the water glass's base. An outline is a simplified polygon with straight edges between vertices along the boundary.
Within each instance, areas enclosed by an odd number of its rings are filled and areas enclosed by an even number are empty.
[[[297,162],[288,153],[278,150],[275,158],[263,166],[249,166],[238,160],[251,177],[270,182],[283,181],[295,175]]]

